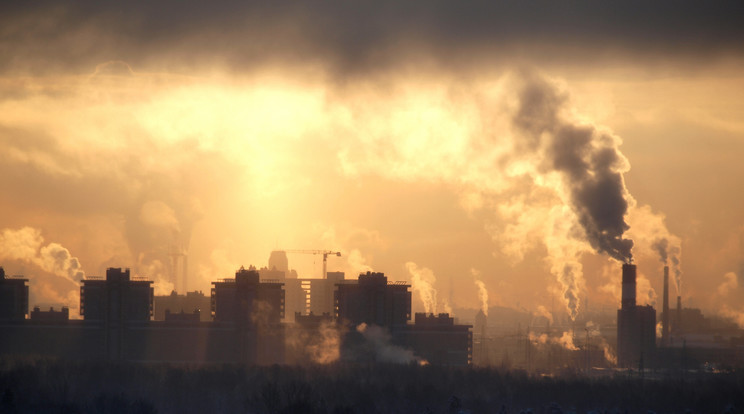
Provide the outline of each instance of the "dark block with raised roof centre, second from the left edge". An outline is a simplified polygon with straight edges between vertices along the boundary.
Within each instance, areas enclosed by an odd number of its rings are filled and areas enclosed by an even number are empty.
[[[86,321],[146,322],[152,318],[152,281],[133,279],[129,269],[106,269],[106,279],[89,277],[80,287],[80,314]]]

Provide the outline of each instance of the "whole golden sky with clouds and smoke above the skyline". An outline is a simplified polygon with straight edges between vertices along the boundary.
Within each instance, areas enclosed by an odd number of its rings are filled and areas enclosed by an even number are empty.
[[[660,307],[666,262],[744,326],[740,2],[0,8],[0,265],[32,306],[107,267],[170,292],[174,249],[204,292],[330,249],[414,310],[482,284],[563,317],[616,308],[630,260]]]

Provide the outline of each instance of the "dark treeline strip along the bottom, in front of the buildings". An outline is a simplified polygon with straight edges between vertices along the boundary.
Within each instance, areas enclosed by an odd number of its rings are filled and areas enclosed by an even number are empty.
[[[744,375],[0,360],[0,413],[737,413]],[[528,411],[529,410],[529,411]]]

